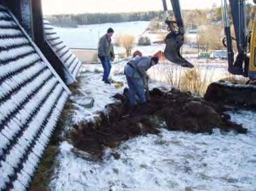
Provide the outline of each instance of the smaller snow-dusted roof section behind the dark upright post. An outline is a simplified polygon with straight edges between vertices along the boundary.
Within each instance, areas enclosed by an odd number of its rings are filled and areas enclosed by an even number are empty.
[[[66,47],[64,42],[60,39],[60,36],[54,31],[54,28],[47,20],[43,20],[43,28],[45,30],[45,37],[47,42],[54,49],[54,52],[64,65],[68,68],[72,76],[77,76],[77,72],[81,67],[81,61]]]

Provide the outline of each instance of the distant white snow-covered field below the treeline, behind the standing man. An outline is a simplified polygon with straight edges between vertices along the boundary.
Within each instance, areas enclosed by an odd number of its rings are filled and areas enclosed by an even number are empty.
[[[151,42],[160,40],[160,34],[152,34],[146,31],[150,22],[122,22],[122,23],[107,23],[107,24],[91,24],[79,26],[78,28],[60,28],[56,27],[56,32],[60,35],[62,40],[70,48],[76,49],[97,49],[99,38],[106,33],[109,27],[114,29],[112,36],[113,42],[121,34],[131,34],[135,36],[135,43],[137,43],[140,36],[148,36]],[[191,36],[191,35],[188,35]],[[192,38],[192,37],[191,37]],[[153,55],[157,51],[164,51],[165,45],[152,44],[152,46],[137,46],[133,47],[133,51],[139,50],[143,55]],[[184,45],[184,51],[191,51],[188,45]],[[115,53],[124,53],[123,47],[114,47]]]

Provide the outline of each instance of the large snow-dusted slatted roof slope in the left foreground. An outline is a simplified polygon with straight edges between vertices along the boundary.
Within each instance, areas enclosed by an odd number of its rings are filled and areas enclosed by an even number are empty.
[[[0,4],[0,190],[27,190],[68,94]]]

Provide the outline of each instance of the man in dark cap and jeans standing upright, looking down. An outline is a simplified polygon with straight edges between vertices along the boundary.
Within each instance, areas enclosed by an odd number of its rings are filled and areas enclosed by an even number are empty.
[[[108,80],[110,70],[111,70],[110,60],[114,60],[114,48],[111,43],[111,37],[113,33],[114,33],[114,30],[112,28],[108,28],[107,33],[100,38],[100,42],[98,45],[98,58],[102,62],[102,67],[104,69],[102,80],[106,84],[110,84]]]

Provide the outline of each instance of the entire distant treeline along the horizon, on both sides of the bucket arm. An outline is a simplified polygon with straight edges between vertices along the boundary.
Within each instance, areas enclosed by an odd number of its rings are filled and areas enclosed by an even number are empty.
[[[256,12],[256,7],[247,3],[247,24],[249,19]],[[212,9],[208,10],[183,10],[184,22],[188,28],[196,28],[201,25],[211,24],[221,20],[221,7],[213,4]],[[231,16],[230,7],[228,7],[228,15]],[[82,13],[77,15],[55,15],[46,17],[51,24],[60,27],[77,27],[85,24],[103,24],[133,21],[165,21],[166,14],[164,11],[148,11],[135,13]],[[169,18],[173,18],[173,12],[169,11]]]

